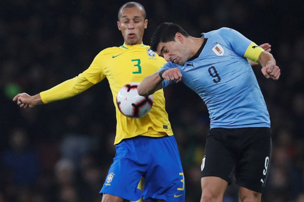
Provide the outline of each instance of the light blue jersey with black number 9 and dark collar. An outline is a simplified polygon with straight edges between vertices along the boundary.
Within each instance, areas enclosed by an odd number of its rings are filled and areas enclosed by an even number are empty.
[[[263,95],[244,58],[249,46],[251,49],[257,46],[229,28],[202,33],[202,36],[207,42],[198,58],[183,66],[168,62],[160,71],[175,67],[180,70],[182,82],[204,100],[210,128],[270,127]],[[173,83],[164,80],[162,86]]]

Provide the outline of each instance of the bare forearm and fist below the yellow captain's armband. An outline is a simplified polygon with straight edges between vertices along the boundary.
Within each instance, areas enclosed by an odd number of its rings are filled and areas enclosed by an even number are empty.
[[[281,70],[276,65],[276,60],[271,53],[262,52],[258,58],[258,63],[262,66],[261,71],[266,78],[279,79]]]

